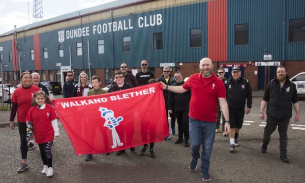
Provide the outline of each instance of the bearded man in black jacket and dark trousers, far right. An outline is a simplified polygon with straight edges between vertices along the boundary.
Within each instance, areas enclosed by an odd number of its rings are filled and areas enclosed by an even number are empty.
[[[294,83],[289,81],[287,68],[278,66],[275,79],[267,85],[264,98],[261,103],[259,117],[264,120],[264,109],[267,105],[267,125],[264,129],[262,153],[267,152],[267,146],[270,142],[271,134],[277,126],[279,133],[279,152],[280,159],[288,163],[287,158],[287,129],[290,118],[292,117],[292,105],[296,111],[295,122],[300,120],[300,107],[297,97],[297,88]]]

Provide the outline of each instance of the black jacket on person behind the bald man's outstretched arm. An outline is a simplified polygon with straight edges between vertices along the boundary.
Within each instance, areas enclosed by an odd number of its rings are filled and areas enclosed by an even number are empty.
[[[175,83],[172,86],[182,86],[185,82]],[[168,110],[176,111],[188,111],[189,110],[189,101],[191,97],[191,91],[186,91],[184,93],[175,93],[169,91],[168,93]]]

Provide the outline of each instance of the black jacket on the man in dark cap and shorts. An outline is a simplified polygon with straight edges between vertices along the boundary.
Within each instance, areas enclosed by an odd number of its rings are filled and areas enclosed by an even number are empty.
[[[224,85],[230,110],[244,110],[245,100],[247,100],[247,107],[252,107],[252,89],[248,80],[241,77],[235,81],[231,76]]]

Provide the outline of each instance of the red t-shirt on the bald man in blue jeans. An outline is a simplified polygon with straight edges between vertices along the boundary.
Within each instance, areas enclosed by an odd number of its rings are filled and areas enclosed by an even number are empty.
[[[182,87],[192,92],[189,117],[205,122],[216,122],[218,97],[226,97],[223,82],[214,74],[204,78],[201,73],[198,73],[191,75]]]

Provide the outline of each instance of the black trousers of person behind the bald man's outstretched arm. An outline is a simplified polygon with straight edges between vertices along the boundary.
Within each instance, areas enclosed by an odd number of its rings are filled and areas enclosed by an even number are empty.
[[[178,136],[179,138],[183,138],[188,140],[188,124],[189,124],[189,117],[188,117],[188,110],[187,111],[175,111],[175,115],[177,118],[178,123]]]

